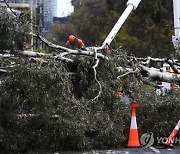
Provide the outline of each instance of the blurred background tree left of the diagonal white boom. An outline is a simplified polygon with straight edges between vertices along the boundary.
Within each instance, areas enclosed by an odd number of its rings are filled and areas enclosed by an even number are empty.
[[[59,28],[52,26],[52,32],[59,37],[74,33],[75,36],[82,38],[87,46],[100,45],[107,35],[107,27],[112,27],[114,19],[118,17],[116,12],[110,11],[111,14],[109,14],[106,9],[105,0],[83,0],[81,5],[68,18],[68,22],[59,25]],[[74,28],[69,24],[73,25]],[[58,29],[61,29],[61,31]]]

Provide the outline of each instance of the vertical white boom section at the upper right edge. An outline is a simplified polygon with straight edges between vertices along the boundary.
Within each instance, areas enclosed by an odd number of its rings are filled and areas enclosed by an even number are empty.
[[[175,49],[180,49],[180,0],[173,0],[174,8],[174,36],[172,42]]]

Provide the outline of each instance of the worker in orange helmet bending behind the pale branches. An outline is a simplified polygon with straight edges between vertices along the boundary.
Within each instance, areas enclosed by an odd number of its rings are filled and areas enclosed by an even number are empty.
[[[70,35],[66,42],[66,47],[71,49],[82,49],[86,50],[86,47],[81,39],[76,38],[74,35]]]

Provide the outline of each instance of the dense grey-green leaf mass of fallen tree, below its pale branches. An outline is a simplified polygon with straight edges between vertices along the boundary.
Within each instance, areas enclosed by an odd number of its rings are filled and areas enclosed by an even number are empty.
[[[114,96],[121,89],[138,103],[140,135],[153,132],[157,137],[167,136],[179,118],[179,91],[160,97],[145,91],[136,76],[117,80],[113,68],[114,64],[125,65],[125,61],[118,61],[121,56],[112,58],[112,63],[100,61],[97,79],[102,95],[98,101],[90,101],[99,91],[92,70],[93,59],[77,57],[74,65],[60,63],[58,67],[40,69],[21,62],[21,66],[11,69],[0,85],[1,153],[126,145],[131,109]]]

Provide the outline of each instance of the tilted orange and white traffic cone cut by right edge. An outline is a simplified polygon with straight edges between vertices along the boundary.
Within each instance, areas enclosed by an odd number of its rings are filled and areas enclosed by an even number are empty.
[[[167,138],[164,146],[165,147],[170,147],[173,148],[173,142],[174,142],[174,137],[177,135],[178,131],[180,128],[180,120],[178,121],[178,123],[176,124],[176,127],[174,128],[174,130],[171,132],[171,134],[169,135],[169,137]]]

